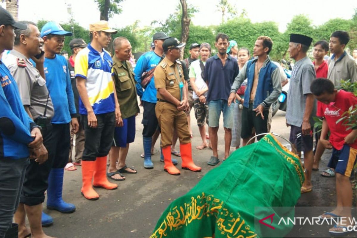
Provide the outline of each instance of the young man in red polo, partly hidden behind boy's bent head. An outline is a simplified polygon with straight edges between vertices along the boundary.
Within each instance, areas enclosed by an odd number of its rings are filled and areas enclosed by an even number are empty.
[[[328,53],[328,42],[325,40],[317,41],[313,47],[314,61],[312,64],[315,66],[316,78],[327,78],[328,64],[323,58]],[[317,101],[317,107],[320,107],[321,102]],[[312,164],[312,170],[318,170],[318,164],[321,160],[321,156],[325,151],[325,147],[319,142],[321,133],[316,133],[316,147],[314,151],[314,159]]]

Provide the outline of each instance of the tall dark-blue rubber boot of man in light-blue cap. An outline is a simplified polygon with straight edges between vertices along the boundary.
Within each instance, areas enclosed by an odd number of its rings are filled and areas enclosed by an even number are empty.
[[[47,209],[57,210],[62,213],[76,211],[74,204],[66,203],[62,199],[63,168],[52,168],[48,176]]]

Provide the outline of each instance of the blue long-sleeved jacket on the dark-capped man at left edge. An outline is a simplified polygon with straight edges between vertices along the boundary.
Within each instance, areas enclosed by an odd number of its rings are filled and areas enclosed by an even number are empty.
[[[33,121],[22,106],[15,79],[1,61],[0,79],[0,159],[26,158],[29,156],[27,144],[34,140],[30,134],[30,123]],[[12,125],[14,130],[7,131]]]

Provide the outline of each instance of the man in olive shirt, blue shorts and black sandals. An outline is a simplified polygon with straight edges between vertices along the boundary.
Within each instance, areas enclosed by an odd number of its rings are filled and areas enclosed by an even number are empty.
[[[116,97],[120,105],[123,126],[115,127],[113,145],[109,151],[109,168],[107,177],[122,181],[122,173],[137,173],[134,168],[127,167],[125,159],[129,143],[135,139],[135,117],[139,113],[136,99],[134,70],[129,62],[131,44],[125,37],[116,37],[113,41],[115,55],[113,56],[113,81]],[[119,162],[117,163],[119,159]]]

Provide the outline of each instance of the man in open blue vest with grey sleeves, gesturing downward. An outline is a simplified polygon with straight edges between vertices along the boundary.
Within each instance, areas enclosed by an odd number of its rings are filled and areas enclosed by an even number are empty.
[[[253,52],[257,56],[248,61],[232,85],[228,98],[228,106],[235,98],[236,91],[245,79],[248,79],[242,111],[243,146],[247,145],[255,128],[256,134],[267,133],[267,120],[270,105],[277,100],[281,93],[281,75],[269,57],[273,41],[268,36],[260,36],[255,42]],[[260,140],[262,136],[258,137]]]

